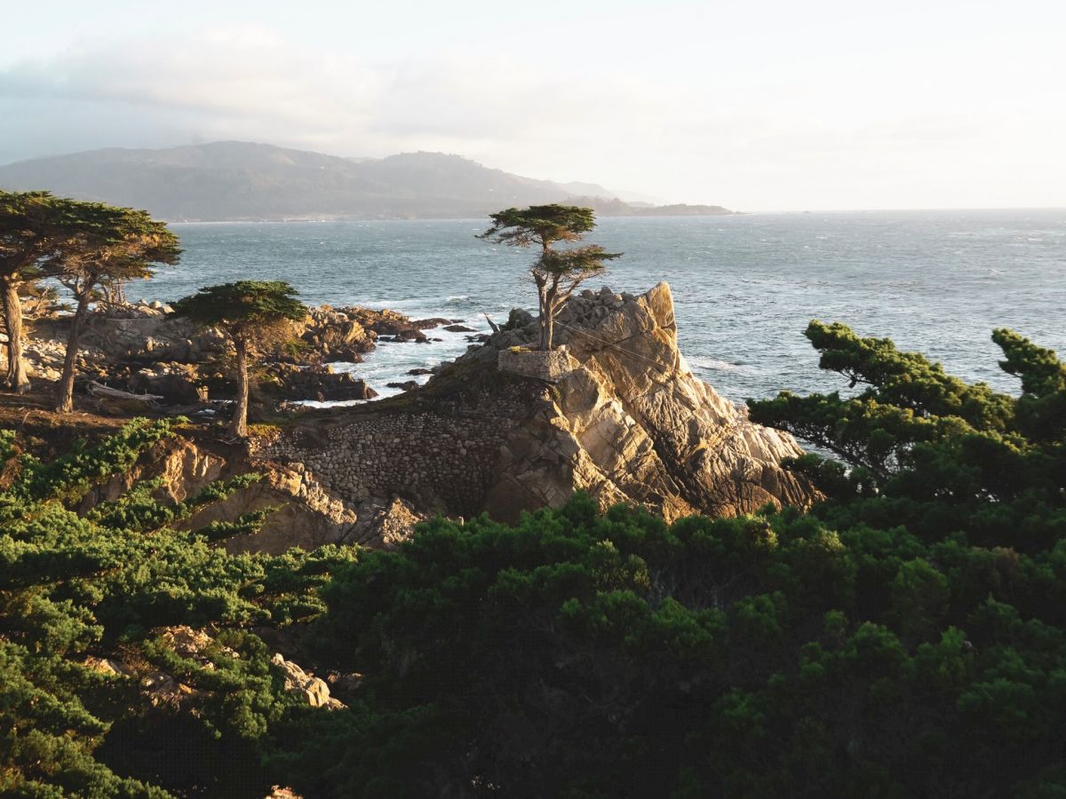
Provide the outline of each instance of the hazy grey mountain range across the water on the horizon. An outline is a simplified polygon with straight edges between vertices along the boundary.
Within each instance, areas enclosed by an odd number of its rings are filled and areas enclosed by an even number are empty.
[[[171,222],[461,218],[571,200],[610,216],[732,213],[628,203],[595,183],[523,178],[441,152],[350,159],[248,142],[20,161],[0,166],[0,187],[144,208]]]

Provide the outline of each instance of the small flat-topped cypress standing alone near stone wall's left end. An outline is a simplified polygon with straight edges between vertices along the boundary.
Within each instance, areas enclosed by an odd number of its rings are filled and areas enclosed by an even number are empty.
[[[175,312],[207,327],[219,327],[233,342],[237,354],[237,406],[229,434],[248,434],[248,356],[276,342],[289,323],[302,320],[307,307],[296,291],[282,280],[238,280],[210,286],[198,294],[179,299]]]

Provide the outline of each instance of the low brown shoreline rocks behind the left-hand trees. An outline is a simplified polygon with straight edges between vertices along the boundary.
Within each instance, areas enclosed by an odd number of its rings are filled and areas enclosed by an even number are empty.
[[[26,357],[31,379],[59,379],[68,328],[69,319],[64,316],[30,324]],[[311,308],[296,325],[292,345],[264,362],[255,390],[259,415],[269,415],[285,402],[372,399],[378,391],[346,369],[361,363],[379,343],[439,342],[434,336],[438,328],[474,332],[463,320],[413,320],[395,311],[361,307]],[[79,388],[95,380],[120,391],[150,394],[163,407],[185,412],[197,405],[208,408],[211,401],[231,398],[227,353],[227,341],[217,331],[197,328],[162,303],[109,306],[86,319],[78,357]],[[411,372],[421,375],[430,370]],[[417,385],[407,377],[400,386],[403,390]],[[114,397],[110,401],[114,404]]]

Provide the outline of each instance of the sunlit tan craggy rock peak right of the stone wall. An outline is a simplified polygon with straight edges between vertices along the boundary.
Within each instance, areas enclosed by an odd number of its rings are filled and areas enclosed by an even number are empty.
[[[787,434],[761,427],[693,376],[677,348],[674,301],[659,283],[633,297],[585,292],[556,326],[572,372],[550,410],[514,430],[485,508],[554,505],[581,488],[604,505],[639,502],[666,519],[732,516],[768,502],[804,505],[810,486],[779,466],[801,454]],[[494,337],[529,343],[526,325]],[[472,355],[471,357],[483,357]]]

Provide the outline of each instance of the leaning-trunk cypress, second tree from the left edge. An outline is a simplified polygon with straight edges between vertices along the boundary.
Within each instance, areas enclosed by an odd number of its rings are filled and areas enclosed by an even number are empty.
[[[76,303],[55,399],[60,413],[74,410],[75,363],[88,304],[102,299],[113,284],[150,277],[152,264],[174,264],[181,256],[178,237],[147,211],[82,205],[85,229],[64,244],[52,270]]]

